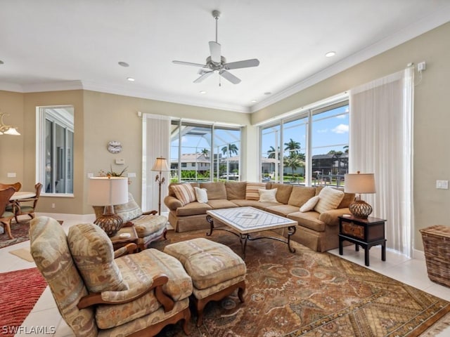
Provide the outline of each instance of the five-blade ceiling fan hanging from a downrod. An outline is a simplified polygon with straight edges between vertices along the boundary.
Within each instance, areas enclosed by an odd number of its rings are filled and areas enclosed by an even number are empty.
[[[200,77],[198,77],[198,79],[195,79],[194,83],[200,83],[204,79],[207,79],[207,77],[210,77],[212,74],[214,74],[214,72],[217,72],[221,77],[229,80],[232,84],[238,84],[240,83],[240,79],[231,74],[231,72],[228,72],[228,70],[257,67],[259,65],[259,60],[257,60],[257,58],[252,58],[251,60],[227,63],[224,56],[221,55],[221,45],[217,42],[217,21],[219,20],[220,12],[212,11],[212,16],[216,20],[216,41],[210,41],[211,55],[206,58],[206,64],[202,65],[200,63],[184,61],[172,62],[174,62],[176,65],[192,65],[194,67],[200,67],[201,69],[198,70],[198,74],[200,74]]]

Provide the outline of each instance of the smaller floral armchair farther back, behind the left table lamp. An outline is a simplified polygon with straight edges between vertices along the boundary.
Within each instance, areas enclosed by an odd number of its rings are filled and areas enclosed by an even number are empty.
[[[93,208],[96,218],[99,218],[103,214],[103,206]],[[139,251],[146,249],[150,242],[166,237],[167,218],[157,216],[157,211],[143,212],[131,193],[128,193],[127,204],[114,205],[114,212],[122,218],[124,225],[132,225],[136,229]]]

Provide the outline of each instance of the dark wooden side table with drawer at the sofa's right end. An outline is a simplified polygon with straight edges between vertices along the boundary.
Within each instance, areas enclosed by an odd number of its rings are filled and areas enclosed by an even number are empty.
[[[364,264],[369,265],[368,252],[372,246],[381,245],[381,260],[386,260],[385,219],[355,218],[354,216],[339,217],[339,255],[343,254],[342,242],[348,241],[364,248]]]

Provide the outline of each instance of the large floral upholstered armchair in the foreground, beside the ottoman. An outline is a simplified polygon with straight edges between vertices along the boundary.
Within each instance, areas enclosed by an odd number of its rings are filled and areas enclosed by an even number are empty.
[[[83,223],[66,236],[53,218],[30,223],[31,254],[75,336],[154,336],[191,317],[192,280],[176,258],[146,249],[115,258],[100,227]]]

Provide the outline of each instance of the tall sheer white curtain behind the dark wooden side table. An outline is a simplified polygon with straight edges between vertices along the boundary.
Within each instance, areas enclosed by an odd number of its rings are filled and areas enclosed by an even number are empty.
[[[374,173],[362,199],[387,220],[387,247],[411,256],[413,229],[413,68],[350,91],[349,173]]]

